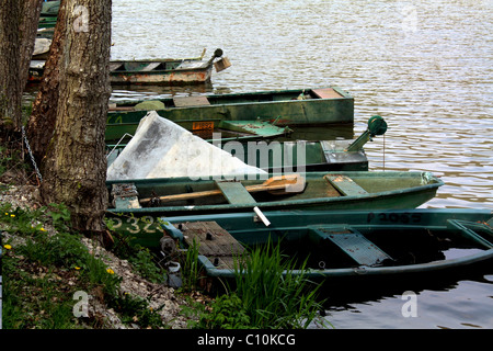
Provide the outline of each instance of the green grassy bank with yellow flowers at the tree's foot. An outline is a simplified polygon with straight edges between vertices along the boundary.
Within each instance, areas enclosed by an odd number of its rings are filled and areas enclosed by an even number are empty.
[[[65,206],[25,211],[1,203],[0,215],[0,229],[9,235],[2,242],[1,260],[3,328],[106,328],[102,316],[76,317],[78,292],[113,308],[123,322],[138,320],[141,328],[165,328],[147,301],[119,293],[121,278],[90,253],[80,234],[70,229]],[[48,225],[55,233],[45,228]],[[148,262],[144,259],[148,252],[139,252],[135,260]]]

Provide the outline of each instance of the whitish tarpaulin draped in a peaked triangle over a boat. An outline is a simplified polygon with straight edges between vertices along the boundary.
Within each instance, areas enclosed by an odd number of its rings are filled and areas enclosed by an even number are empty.
[[[265,174],[150,111],[107,169],[107,180]]]

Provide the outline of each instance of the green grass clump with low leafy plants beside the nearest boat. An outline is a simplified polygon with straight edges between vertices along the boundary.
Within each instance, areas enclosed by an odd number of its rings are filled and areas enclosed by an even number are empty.
[[[203,310],[195,328],[206,329],[306,329],[319,318],[322,303],[314,284],[294,273],[297,264],[286,259],[278,244],[249,250],[238,258],[234,288],[215,299]],[[299,268],[303,271],[306,262]]]

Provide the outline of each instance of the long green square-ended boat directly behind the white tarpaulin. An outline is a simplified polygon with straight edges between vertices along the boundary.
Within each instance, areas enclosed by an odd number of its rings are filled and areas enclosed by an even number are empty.
[[[142,107],[141,102],[119,102],[111,106],[106,124],[123,124],[125,133],[133,134],[149,110],[174,123],[188,122],[194,129],[214,128],[221,121],[261,121],[289,127],[354,123],[354,99],[337,87],[176,95],[154,102],[157,105],[150,107]]]

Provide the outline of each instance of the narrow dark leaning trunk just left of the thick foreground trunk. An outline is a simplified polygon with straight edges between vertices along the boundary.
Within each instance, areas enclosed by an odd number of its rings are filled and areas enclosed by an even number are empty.
[[[65,42],[65,3],[61,0],[58,12],[58,21],[55,26],[55,33],[49,48],[49,56],[45,64],[45,72],[39,83],[39,90],[36,100],[33,103],[33,112],[27,123],[27,138],[36,162],[44,173],[44,158],[49,140],[55,129],[58,105],[58,82],[60,59]]]

